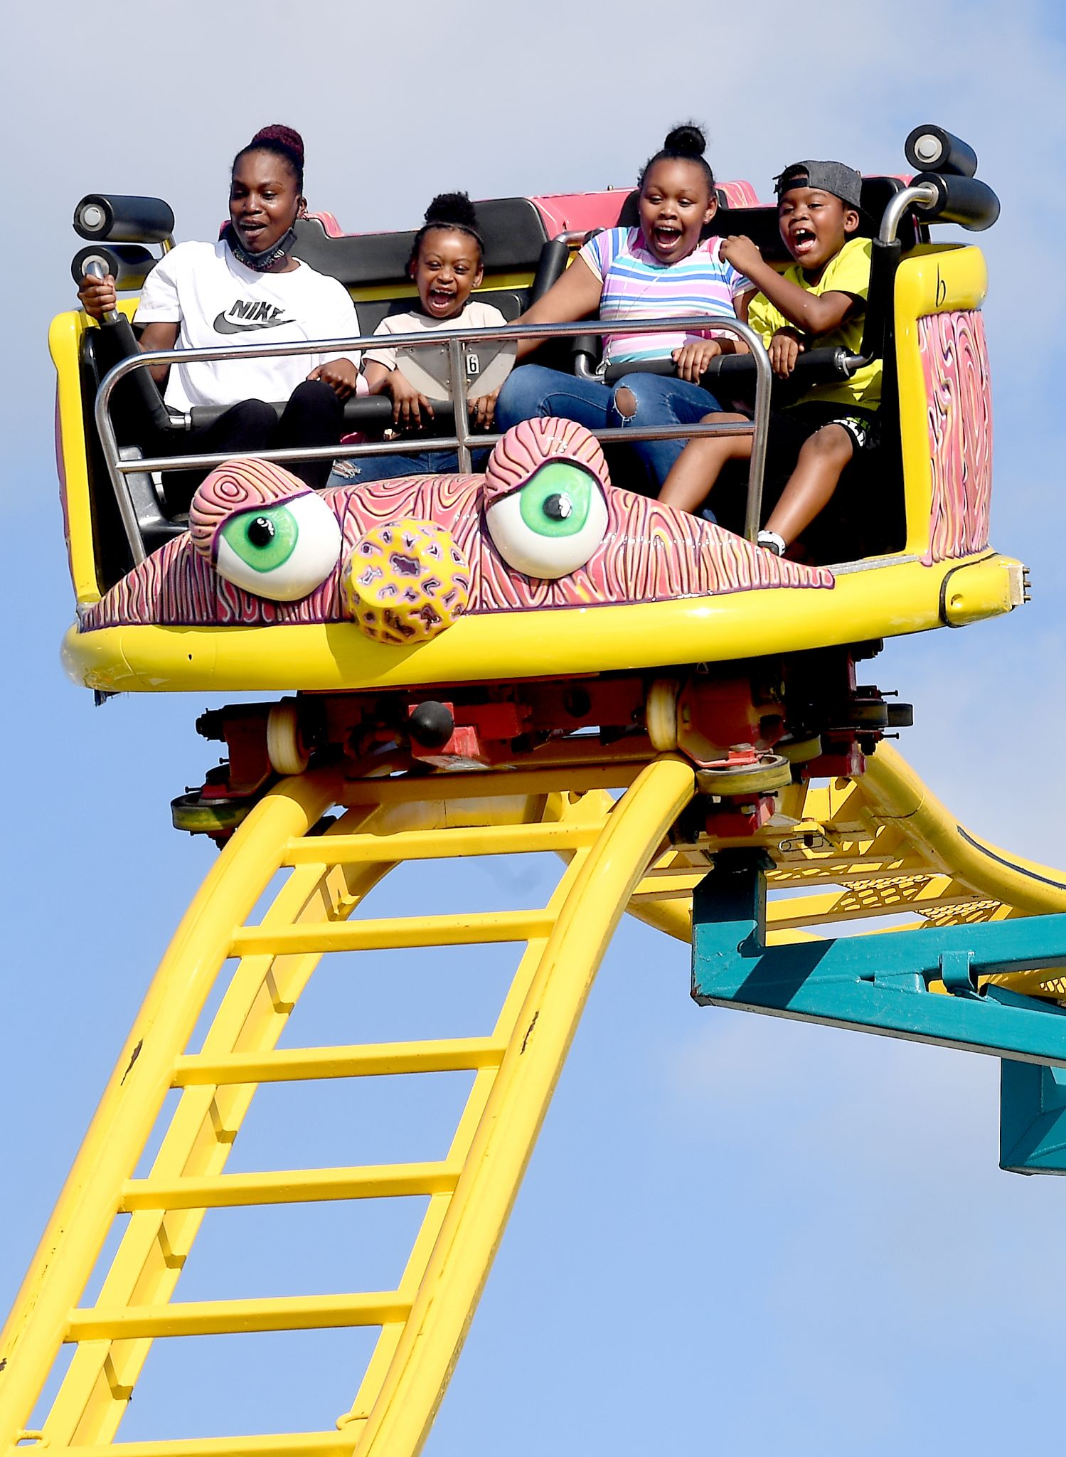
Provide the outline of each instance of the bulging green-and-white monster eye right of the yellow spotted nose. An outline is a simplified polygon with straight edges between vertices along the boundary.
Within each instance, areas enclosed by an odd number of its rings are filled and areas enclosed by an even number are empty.
[[[485,513],[497,551],[527,577],[565,577],[584,567],[607,532],[607,504],[593,476],[565,460],[542,465],[526,485]]]

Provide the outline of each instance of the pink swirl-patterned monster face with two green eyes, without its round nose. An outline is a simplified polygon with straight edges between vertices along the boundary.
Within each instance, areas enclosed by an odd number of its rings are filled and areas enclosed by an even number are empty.
[[[303,513],[320,522],[320,530],[307,530],[317,543],[307,567],[299,555]],[[315,494],[280,466],[230,462],[197,492],[189,535],[153,552],[86,609],[82,629],[348,621],[358,631],[345,587],[357,545],[412,520],[447,532],[469,564],[469,600],[451,632],[472,618],[508,612],[833,587],[826,567],[786,561],[617,490],[581,425],[530,420],[498,441],[485,475],[398,476]]]

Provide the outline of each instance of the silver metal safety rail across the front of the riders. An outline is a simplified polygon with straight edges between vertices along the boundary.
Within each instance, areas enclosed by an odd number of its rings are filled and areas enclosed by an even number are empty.
[[[687,440],[695,436],[750,434],[751,463],[747,481],[744,535],[749,541],[754,541],[759,533],[759,517],[763,501],[763,468],[766,463],[766,434],[770,414],[772,374],[770,357],[766,353],[760,335],[756,334],[754,329],[749,328],[747,323],[741,323],[740,319],[708,318],[706,315],[687,319],[623,319],[612,323],[604,323],[599,319],[581,319],[577,323],[508,323],[501,328],[466,329],[463,332],[447,334],[446,342],[449,345],[449,364],[451,370],[453,393],[456,396],[453,401],[456,431],[454,436],[434,437],[434,449],[456,450],[459,456],[459,469],[462,472],[469,472],[470,441],[476,440],[478,447],[481,447],[494,446],[501,439],[500,434],[492,433],[479,434],[476,437],[470,433],[467,424],[469,401],[466,393],[466,370],[463,369],[465,345],[500,344],[511,339],[572,338],[578,334],[596,334],[600,337],[609,337],[613,334],[661,334],[664,328],[670,329],[670,332],[684,334],[702,334],[705,329],[712,328],[716,332],[734,334],[747,345],[756,364],[754,420],[750,424],[722,425],[623,425],[620,428],[593,430],[590,433],[604,444],[612,444],[615,441],[633,443],[638,440]],[[444,342],[444,339],[441,339],[438,334],[389,335],[390,348],[428,348],[430,345],[441,342]],[[229,452],[224,455],[147,456],[134,460],[121,459],[109,407],[115,386],[125,379],[127,374],[133,373],[135,369],[150,369],[153,364],[181,364],[194,361],[213,363],[218,360],[242,358],[285,358],[294,354],[350,354],[354,350],[376,348],[377,344],[380,344],[380,335],[366,334],[341,339],[300,339],[296,344],[239,344],[230,345],[229,348],[220,347],[210,350],[150,350],[143,354],[119,360],[118,364],[109,369],[96,390],[93,417],[134,564],[143,562],[147,552],[144,551],[144,542],[137,522],[137,510],[125,479],[127,475],[151,471],[197,471],[201,468],[210,471],[213,466],[221,465],[223,460],[237,459],[240,453]],[[256,452],[256,459],[277,462],[350,459],[354,456],[402,455],[409,449],[409,440],[370,441],[361,446],[342,446],[338,443],[336,446],[310,446],[306,449],[259,450]]]

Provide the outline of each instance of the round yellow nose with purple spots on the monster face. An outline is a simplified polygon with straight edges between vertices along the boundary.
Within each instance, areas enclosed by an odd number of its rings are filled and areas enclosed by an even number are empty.
[[[341,587],[350,616],[368,638],[414,647],[466,610],[470,564],[443,526],[402,517],[355,542]]]

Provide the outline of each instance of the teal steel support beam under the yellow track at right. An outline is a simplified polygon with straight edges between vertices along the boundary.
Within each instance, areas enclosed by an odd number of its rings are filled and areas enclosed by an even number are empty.
[[[767,947],[770,865],[763,851],[721,851],[696,887],[693,998],[998,1055],[1000,1166],[1066,1173],[1066,1010],[979,986],[993,973],[1066,966],[1066,915]]]

